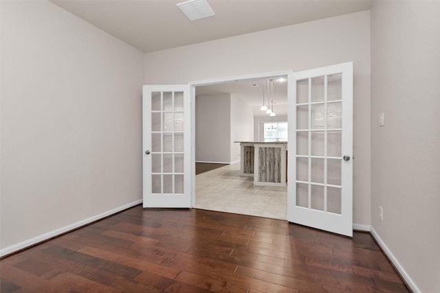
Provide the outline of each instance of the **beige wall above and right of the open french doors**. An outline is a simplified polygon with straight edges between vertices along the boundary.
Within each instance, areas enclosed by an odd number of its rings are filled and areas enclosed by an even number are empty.
[[[353,221],[371,224],[370,12],[145,54],[146,84],[186,84],[354,62]]]

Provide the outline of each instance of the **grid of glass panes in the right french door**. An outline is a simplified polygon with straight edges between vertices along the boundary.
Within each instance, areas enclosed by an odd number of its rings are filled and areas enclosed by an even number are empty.
[[[333,189],[342,188],[340,183],[341,163],[340,132],[342,130],[341,75],[332,78],[332,100],[329,102],[329,75],[299,80],[297,84],[297,176],[296,183],[307,185],[307,204],[305,187],[300,187],[301,196],[296,200],[298,207],[307,207],[325,213],[339,212],[335,206],[340,202]],[[307,101],[307,102],[306,102]],[[332,196],[329,198],[329,160],[331,160]],[[307,170],[307,174],[305,172]],[[336,183],[336,184],[335,184]],[[329,209],[329,204],[331,209]]]

